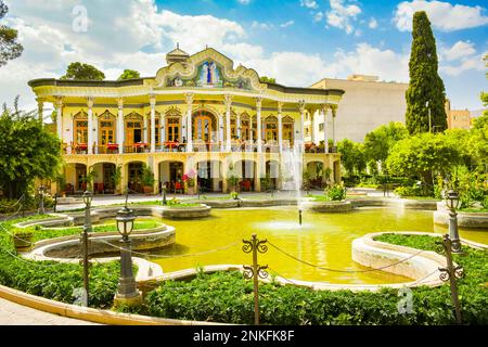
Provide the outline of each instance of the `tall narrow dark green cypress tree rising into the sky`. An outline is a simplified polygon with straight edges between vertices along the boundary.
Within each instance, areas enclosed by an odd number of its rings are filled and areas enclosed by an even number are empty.
[[[425,11],[413,15],[413,42],[410,53],[410,86],[407,90],[407,128],[410,134],[447,129],[446,91],[437,73],[436,40]],[[428,102],[428,106],[427,106]]]

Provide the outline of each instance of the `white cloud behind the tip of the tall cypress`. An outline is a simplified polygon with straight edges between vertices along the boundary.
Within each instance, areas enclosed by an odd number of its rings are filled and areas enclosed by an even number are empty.
[[[488,24],[481,7],[452,5],[449,2],[413,0],[397,5],[394,23],[400,31],[412,30],[412,18],[416,11],[425,11],[432,25],[442,31],[454,31]]]

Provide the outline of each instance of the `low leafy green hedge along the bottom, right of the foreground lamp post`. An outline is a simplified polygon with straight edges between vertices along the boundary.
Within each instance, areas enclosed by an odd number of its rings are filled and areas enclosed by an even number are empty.
[[[387,234],[380,241],[434,250],[439,237]],[[466,277],[459,281],[465,324],[488,323],[487,253],[464,247],[466,256],[454,256]],[[448,284],[412,290],[413,313],[401,314],[397,305],[398,290],[380,292],[313,291],[293,285],[261,283],[259,308],[262,324],[453,324],[455,322]],[[253,282],[242,273],[198,273],[190,282],[167,281],[150,292],[145,300],[151,316],[217,321],[235,324],[253,323]]]

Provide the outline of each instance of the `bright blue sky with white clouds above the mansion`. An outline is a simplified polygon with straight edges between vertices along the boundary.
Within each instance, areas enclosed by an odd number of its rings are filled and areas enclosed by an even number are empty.
[[[367,0],[5,0],[7,24],[26,51],[0,68],[0,98],[21,94],[26,81],[59,77],[73,61],[91,63],[115,79],[124,68],[154,76],[180,42],[189,53],[205,44],[275,77],[306,87],[324,77],[377,75],[408,81],[411,16],[433,23],[439,73],[454,108],[481,108],[488,90],[481,56],[488,52],[486,1]],[[87,29],[73,23],[85,9]],[[108,16],[106,14],[110,14]]]

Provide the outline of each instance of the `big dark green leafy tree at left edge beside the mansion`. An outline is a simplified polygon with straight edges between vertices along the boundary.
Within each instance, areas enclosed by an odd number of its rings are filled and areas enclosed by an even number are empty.
[[[3,105],[0,116],[0,185],[10,198],[20,197],[36,178],[56,179],[61,144],[36,117],[36,112]]]

